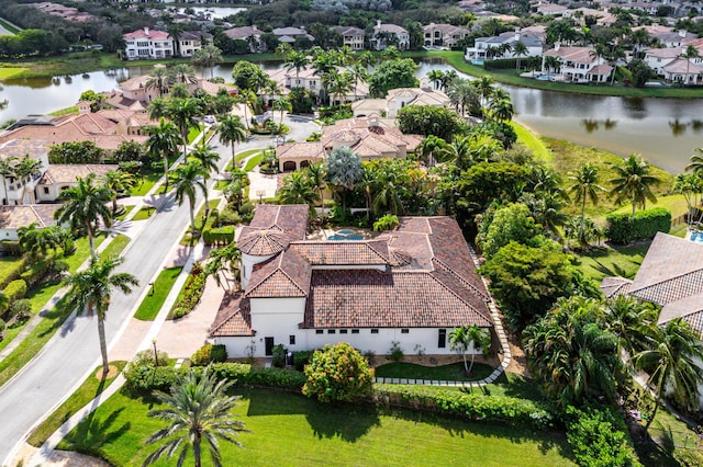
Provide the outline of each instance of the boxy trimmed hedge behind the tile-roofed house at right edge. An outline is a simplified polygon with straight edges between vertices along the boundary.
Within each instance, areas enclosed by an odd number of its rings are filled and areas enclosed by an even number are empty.
[[[671,229],[671,213],[663,207],[639,210],[634,220],[629,214],[611,214],[605,219],[605,237],[618,244],[651,240],[657,232],[666,234]]]

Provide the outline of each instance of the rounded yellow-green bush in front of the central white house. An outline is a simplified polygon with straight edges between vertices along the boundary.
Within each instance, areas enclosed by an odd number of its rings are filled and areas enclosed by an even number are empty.
[[[302,392],[321,402],[366,397],[373,380],[366,358],[344,342],[316,351],[305,367],[305,377]]]

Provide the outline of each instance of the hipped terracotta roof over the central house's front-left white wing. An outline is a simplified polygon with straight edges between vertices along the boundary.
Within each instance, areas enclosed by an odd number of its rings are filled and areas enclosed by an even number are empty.
[[[245,296],[305,297],[310,291],[312,269],[294,249],[289,249],[270,261],[254,266]]]

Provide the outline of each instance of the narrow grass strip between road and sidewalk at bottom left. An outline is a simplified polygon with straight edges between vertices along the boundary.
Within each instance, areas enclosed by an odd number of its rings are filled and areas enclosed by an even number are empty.
[[[122,372],[126,362],[110,362],[118,368],[118,374]],[[96,373],[102,368],[102,365],[96,368]],[[66,420],[71,418],[74,413],[80,410],[86,403],[90,402],[103,390],[105,390],[116,377],[113,376],[107,380],[96,378],[96,373],[88,376],[83,384],[76,392],[70,395],[62,406],[56,409],[41,425],[36,428],[27,438],[27,443],[32,446],[41,447],[48,437],[58,430]]]

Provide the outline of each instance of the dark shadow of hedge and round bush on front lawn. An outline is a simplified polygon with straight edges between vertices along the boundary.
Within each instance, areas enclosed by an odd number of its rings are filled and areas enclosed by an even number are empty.
[[[380,425],[378,410],[367,402],[323,403],[302,395],[287,392],[282,397],[278,391],[264,389],[237,392],[249,400],[248,417],[304,414],[319,438],[338,437],[354,443]]]

